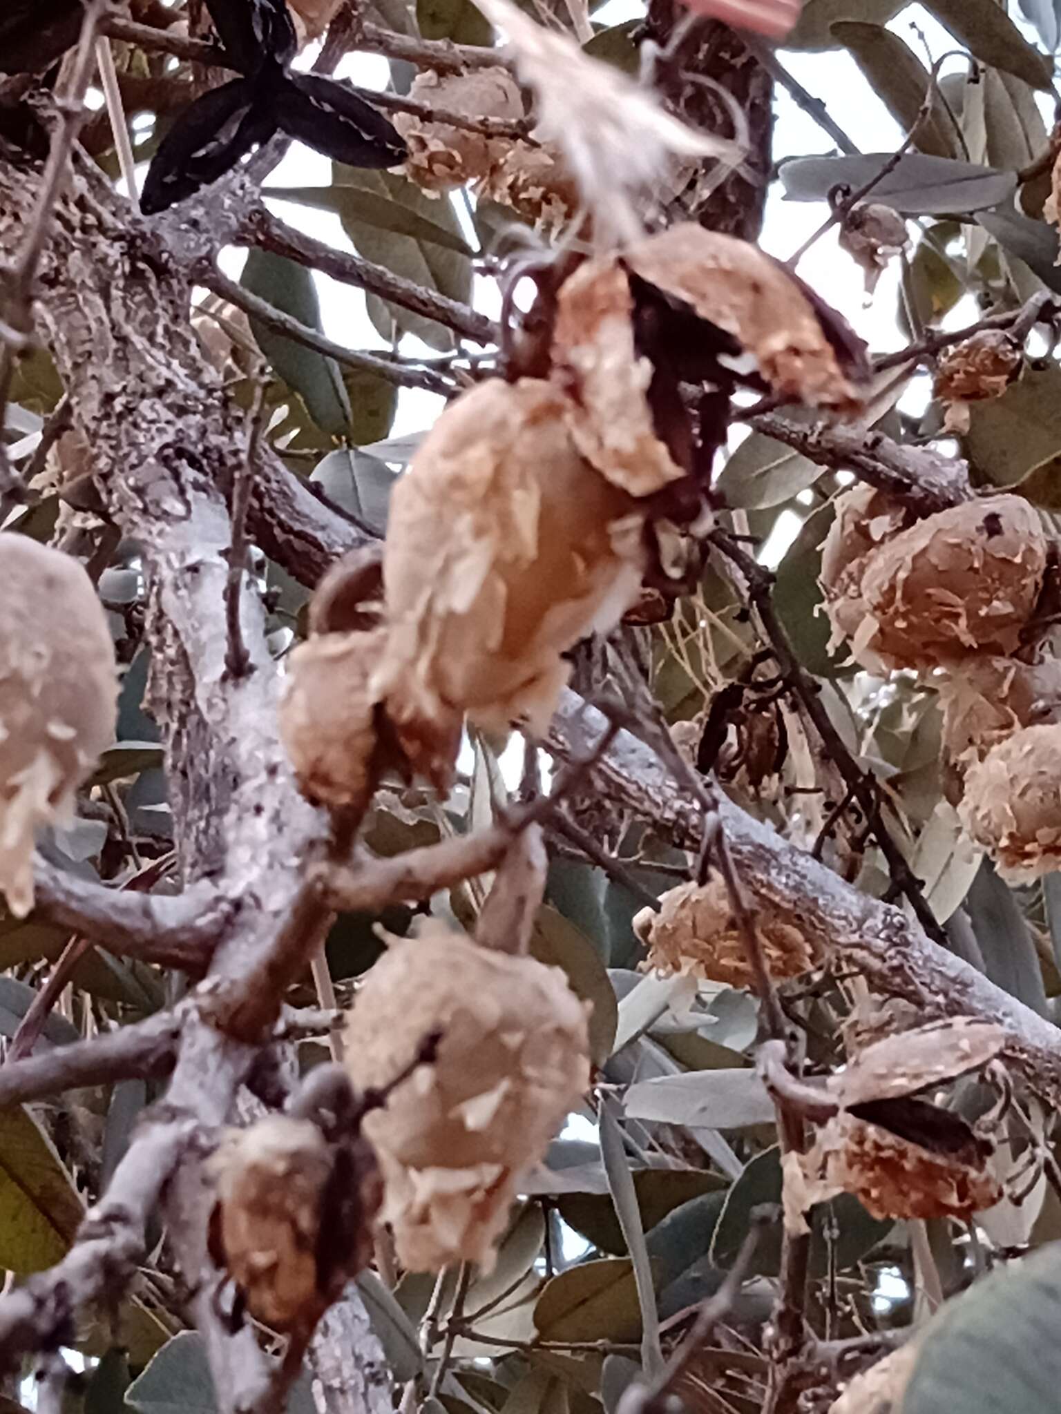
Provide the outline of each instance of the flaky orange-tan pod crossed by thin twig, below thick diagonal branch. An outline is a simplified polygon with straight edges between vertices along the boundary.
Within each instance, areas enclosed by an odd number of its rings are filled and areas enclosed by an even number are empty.
[[[772,977],[795,977],[815,966],[811,942],[798,928],[755,911],[763,952]],[[642,909],[634,932],[648,946],[645,966],[662,973],[688,971],[730,987],[753,986],[744,942],[737,930],[726,884],[679,884],[659,899],[659,912]]]

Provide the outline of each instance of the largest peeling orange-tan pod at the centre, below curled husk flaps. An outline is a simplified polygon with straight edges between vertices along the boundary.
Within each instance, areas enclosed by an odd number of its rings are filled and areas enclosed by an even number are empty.
[[[383,551],[389,618],[373,696],[436,782],[461,717],[543,732],[560,655],[637,597],[637,505],[574,450],[550,385],[489,380],[451,403],[399,478]]]

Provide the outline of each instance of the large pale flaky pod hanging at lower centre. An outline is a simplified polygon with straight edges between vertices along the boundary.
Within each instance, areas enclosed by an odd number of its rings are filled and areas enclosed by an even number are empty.
[[[392,942],[358,991],[345,1052],[355,1086],[386,1083],[436,1029],[434,1065],[365,1120],[383,1216],[412,1270],[488,1267],[521,1176],[589,1085],[586,1008],[559,967],[430,922]]]

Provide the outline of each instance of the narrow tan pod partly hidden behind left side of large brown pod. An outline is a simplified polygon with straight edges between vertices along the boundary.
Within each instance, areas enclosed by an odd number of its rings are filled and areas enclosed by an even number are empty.
[[[874,486],[859,482],[833,502],[835,516],[822,544],[819,583],[832,625],[829,646],[856,639],[867,619],[862,577],[869,556],[904,530],[910,513]]]

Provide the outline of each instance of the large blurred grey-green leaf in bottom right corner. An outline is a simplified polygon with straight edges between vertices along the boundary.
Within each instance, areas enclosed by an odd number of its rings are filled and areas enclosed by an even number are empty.
[[[903,1414],[1055,1414],[1061,1246],[1006,1263],[924,1328]]]

